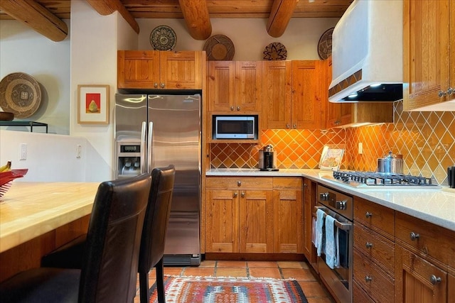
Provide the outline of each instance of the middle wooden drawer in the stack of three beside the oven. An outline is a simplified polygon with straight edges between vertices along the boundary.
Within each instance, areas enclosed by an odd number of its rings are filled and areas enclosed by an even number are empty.
[[[395,259],[395,244],[392,241],[362,224],[355,223],[354,247],[375,260],[376,264],[392,275]]]

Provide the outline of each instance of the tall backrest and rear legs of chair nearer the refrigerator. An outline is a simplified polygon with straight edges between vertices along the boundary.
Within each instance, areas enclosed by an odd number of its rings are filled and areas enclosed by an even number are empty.
[[[139,293],[141,303],[149,303],[149,271],[156,268],[158,302],[164,303],[163,255],[166,242],[175,168],[169,165],[151,172],[149,207],[144,220],[144,231],[139,253]]]

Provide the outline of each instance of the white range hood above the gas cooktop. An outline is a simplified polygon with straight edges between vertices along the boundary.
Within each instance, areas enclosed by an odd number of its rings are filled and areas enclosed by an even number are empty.
[[[333,30],[329,101],[402,99],[402,6],[401,0],[350,4]]]

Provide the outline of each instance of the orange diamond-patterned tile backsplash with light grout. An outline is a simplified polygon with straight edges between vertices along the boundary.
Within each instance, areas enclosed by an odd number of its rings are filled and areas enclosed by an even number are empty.
[[[212,168],[257,167],[259,148],[272,144],[279,168],[318,168],[324,145],[346,148],[343,170],[375,171],[389,151],[402,154],[404,172],[432,177],[447,185],[446,170],[455,165],[455,111],[402,111],[394,103],[395,123],[323,130],[262,131],[261,144],[212,143]],[[358,143],[363,153],[358,153]]]

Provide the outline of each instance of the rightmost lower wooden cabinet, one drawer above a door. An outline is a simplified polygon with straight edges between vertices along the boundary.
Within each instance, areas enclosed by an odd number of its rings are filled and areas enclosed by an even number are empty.
[[[396,213],[395,302],[454,302],[455,233]]]

